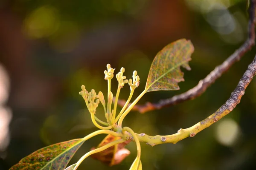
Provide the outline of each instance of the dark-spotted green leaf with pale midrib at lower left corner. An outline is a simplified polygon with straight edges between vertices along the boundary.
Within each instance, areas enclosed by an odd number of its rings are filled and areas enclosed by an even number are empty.
[[[9,170],[64,170],[83,143],[83,139],[73,139],[52,144],[21,159]]]

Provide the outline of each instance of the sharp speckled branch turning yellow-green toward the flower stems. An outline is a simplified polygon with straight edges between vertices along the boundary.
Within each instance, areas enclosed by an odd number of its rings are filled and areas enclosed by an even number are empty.
[[[213,123],[217,122],[222,117],[226,116],[228,113],[233,111],[233,109],[240,103],[241,97],[244,95],[244,91],[252,81],[253,77],[256,75],[256,56],[253,59],[253,62],[248,66],[247,70],[245,71],[243,77],[240,79],[236,89],[231,93],[230,98],[227,102],[224,103],[217,111],[215,111],[212,115],[207,117],[206,119],[198,122],[197,124],[193,125],[192,127],[186,129],[180,129],[177,133],[167,136],[148,136],[145,133],[137,134],[140,142],[146,142],[151,146],[156,144],[163,144],[163,143],[177,143],[182,139],[187,137],[194,137],[198,132],[204,130],[205,128],[209,127]],[[128,138],[134,140],[132,137]]]

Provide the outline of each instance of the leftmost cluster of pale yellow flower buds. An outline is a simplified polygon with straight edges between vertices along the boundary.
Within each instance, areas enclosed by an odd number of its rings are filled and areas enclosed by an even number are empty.
[[[85,89],[85,86],[81,86],[82,91],[79,92],[79,94],[84,98],[85,103],[87,105],[88,110],[90,113],[95,114],[96,113],[96,108],[99,105],[99,96],[96,94],[95,90],[92,89],[89,93]]]

